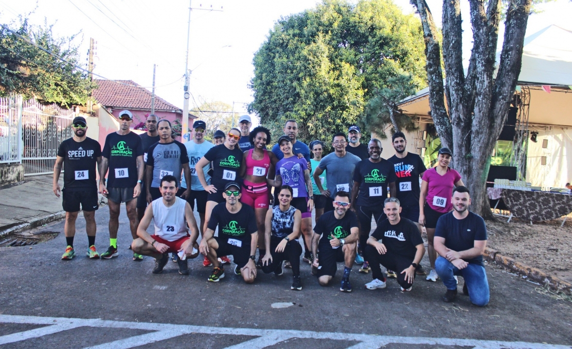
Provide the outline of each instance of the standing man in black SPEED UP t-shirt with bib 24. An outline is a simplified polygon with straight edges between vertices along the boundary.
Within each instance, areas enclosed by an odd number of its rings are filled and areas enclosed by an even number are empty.
[[[96,250],[96,210],[99,207],[97,196],[96,163],[101,169],[101,146],[96,141],[86,137],[88,124],[84,117],[76,116],[72,121],[74,136],[59,145],[58,156],[54,165],[53,191],[59,197],[58,184],[62,165],[63,174],[63,210],[66,212],[66,222],[63,233],[66,236],[66,251],[62,259],[72,259],[76,253],[73,240],[76,235],[76,219],[81,209],[84,211],[85,230],[88,233],[88,257],[100,258]]]

